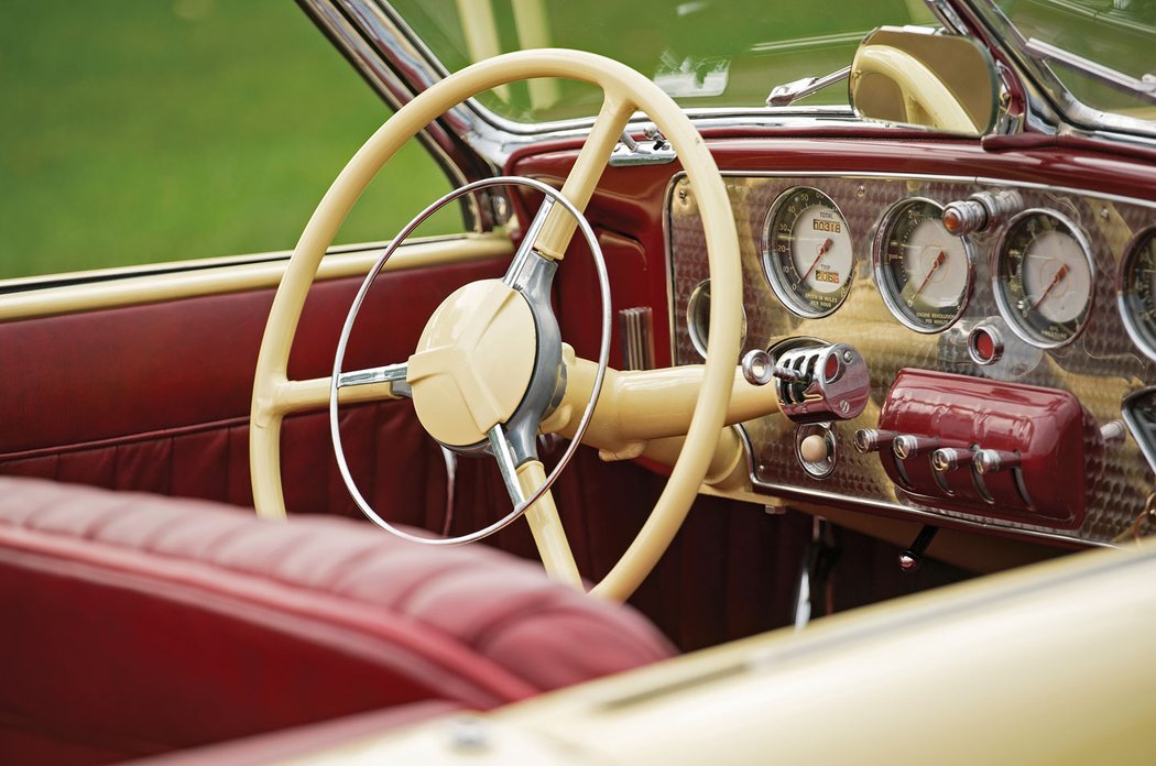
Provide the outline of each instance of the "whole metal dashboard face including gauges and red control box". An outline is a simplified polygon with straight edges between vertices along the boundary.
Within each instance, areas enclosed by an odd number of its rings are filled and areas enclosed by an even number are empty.
[[[724,177],[740,356],[810,337],[870,372],[852,419],[739,424],[757,490],[1061,544],[1135,533],[1153,488],[1156,206],[976,177]],[[670,352],[694,364],[710,287],[683,177],[665,210]]]

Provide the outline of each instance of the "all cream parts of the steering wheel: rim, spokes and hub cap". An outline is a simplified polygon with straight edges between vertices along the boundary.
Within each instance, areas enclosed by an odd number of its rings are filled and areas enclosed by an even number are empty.
[[[713,299],[703,384],[682,452],[661,497],[622,559],[592,590],[595,595],[621,600],[638,587],[669,545],[706,475],[734,380],[735,359],[731,351],[739,348],[742,290],[734,220],[718,168],[702,136],[658,85],[633,69],[593,53],[519,51],[472,65],[400,109],[341,171],[297,243],[273,300],[261,342],[250,418],[253,501],[261,516],[284,516],[281,422],[290,412],[323,409],[329,403],[331,378],[289,380],[287,366],[305,296],[321,256],[354,202],[400,147],[443,112],[482,91],[532,77],[581,80],[598,85],[603,94],[598,119],[562,187],[562,195],[573,207],[585,209],[628,121],[636,111],[642,111],[674,147],[698,203],[705,233]],[[543,209],[527,229],[534,256],[547,262],[561,261],[576,225],[575,218],[561,206],[548,211]],[[388,365],[390,369],[405,369],[422,424],[443,444],[484,443],[487,434],[518,409],[528,385],[531,372],[527,370],[533,360],[527,360],[525,354],[519,356],[517,349],[526,348],[525,333],[535,337],[533,318],[516,290],[494,282],[497,281],[466,285],[447,298],[430,319],[418,351],[408,364]],[[484,333],[469,329],[482,323],[495,328],[494,337],[521,339],[509,344],[514,349],[510,351],[513,356],[499,360],[489,358],[494,349],[504,344],[479,337]],[[502,369],[495,371],[499,363]],[[342,389],[341,401],[395,399],[395,382],[398,379],[388,374],[376,379],[368,377],[364,385]],[[557,384],[560,388],[564,386],[563,375],[560,374]],[[439,399],[443,396],[447,402],[444,406]],[[423,400],[439,404],[423,406]],[[444,416],[446,411],[454,415]],[[517,481],[527,496],[543,478],[544,471],[536,460],[517,467]],[[550,575],[580,585],[548,491],[526,511],[526,518]]]

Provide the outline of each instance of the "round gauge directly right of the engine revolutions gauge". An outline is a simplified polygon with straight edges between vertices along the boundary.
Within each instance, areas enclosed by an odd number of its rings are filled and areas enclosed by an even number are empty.
[[[992,290],[1016,335],[1052,349],[1083,329],[1095,273],[1091,248],[1075,224],[1050,210],[1024,210],[996,245]]]

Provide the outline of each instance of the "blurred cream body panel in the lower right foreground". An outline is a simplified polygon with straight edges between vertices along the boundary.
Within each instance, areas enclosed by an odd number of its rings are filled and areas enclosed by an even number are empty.
[[[295,763],[1146,764],[1154,579],[1089,552]]]

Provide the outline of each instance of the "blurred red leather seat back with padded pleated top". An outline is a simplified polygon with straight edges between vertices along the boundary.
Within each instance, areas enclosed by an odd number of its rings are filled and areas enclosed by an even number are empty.
[[[0,763],[105,763],[653,662],[628,608],[483,548],[0,478]]]

